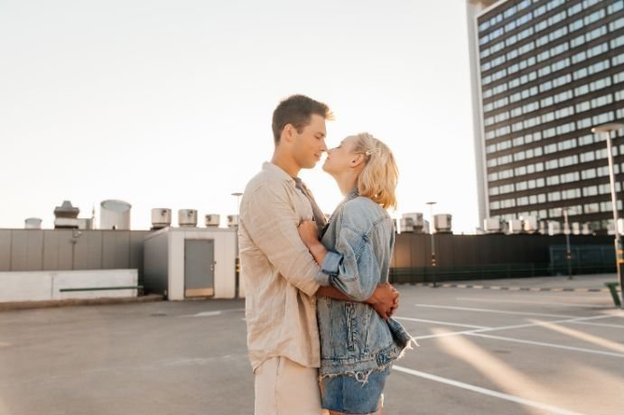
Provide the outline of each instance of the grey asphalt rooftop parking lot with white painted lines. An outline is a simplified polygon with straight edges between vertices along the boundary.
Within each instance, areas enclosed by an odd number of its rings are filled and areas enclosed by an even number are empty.
[[[420,346],[396,363],[384,413],[623,414],[624,315],[587,291],[604,281],[398,286]],[[243,300],[0,312],[2,415],[251,413]]]

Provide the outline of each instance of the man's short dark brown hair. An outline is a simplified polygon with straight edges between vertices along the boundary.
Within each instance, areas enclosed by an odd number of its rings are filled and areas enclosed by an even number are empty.
[[[304,95],[293,95],[280,102],[273,112],[275,145],[279,143],[280,135],[286,124],[292,124],[297,132],[301,133],[303,127],[310,124],[312,114],[321,115],[325,119],[332,119],[329,106]]]

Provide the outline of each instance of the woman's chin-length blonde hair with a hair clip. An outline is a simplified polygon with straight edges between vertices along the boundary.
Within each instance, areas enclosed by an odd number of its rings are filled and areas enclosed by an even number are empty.
[[[382,208],[396,208],[398,168],[385,143],[368,133],[355,135],[353,152],[363,154],[366,165],[359,173],[359,196],[370,198]]]

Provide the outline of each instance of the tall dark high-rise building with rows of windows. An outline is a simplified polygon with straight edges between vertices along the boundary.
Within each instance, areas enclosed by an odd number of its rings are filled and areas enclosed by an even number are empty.
[[[604,134],[624,122],[624,0],[468,0],[480,219],[612,226]],[[612,134],[622,208],[624,131]]]

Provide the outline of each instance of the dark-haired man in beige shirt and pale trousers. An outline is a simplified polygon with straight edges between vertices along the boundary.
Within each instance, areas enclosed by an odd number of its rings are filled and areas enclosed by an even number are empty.
[[[297,177],[327,151],[328,106],[304,96],[288,97],[273,114],[275,152],[247,184],[240,203],[238,247],[246,289],[247,346],[255,374],[255,414],[318,415],[321,398],[316,295],[349,300],[320,287],[320,268],[297,226],[325,217]],[[382,317],[396,307],[389,286],[367,300]]]

